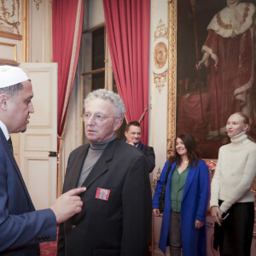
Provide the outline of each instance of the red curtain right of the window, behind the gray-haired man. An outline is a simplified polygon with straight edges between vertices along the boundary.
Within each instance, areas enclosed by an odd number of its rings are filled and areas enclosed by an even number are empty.
[[[148,108],[150,0],[103,0],[113,74],[127,122]],[[148,111],[141,122],[148,144]]]

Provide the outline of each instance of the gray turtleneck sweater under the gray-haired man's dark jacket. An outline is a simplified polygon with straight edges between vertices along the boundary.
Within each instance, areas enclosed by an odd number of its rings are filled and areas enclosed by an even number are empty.
[[[116,138],[116,135],[109,138],[107,141],[102,143],[90,143],[90,147],[84,159],[84,164],[79,176],[79,182],[77,187],[81,187],[84,183],[85,178],[89,175],[91,169],[96,164],[96,161],[101,157],[105,148],[107,148],[108,143],[112,142]]]

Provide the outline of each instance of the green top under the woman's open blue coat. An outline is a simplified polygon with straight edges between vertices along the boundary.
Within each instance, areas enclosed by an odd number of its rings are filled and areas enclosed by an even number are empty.
[[[180,212],[181,202],[183,199],[183,190],[189,172],[189,166],[181,173],[177,171],[177,166],[172,172],[171,177],[171,201],[172,212]]]

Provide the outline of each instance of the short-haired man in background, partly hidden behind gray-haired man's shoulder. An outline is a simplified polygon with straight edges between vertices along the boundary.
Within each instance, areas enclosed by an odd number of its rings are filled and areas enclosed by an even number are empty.
[[[155,166],[154,148],[143,145],[141,142],[142,126],[137,121],[132,121],[125,127],[125,142],[139,148],[145,154],[148,162],[148,171],[152,172]]]

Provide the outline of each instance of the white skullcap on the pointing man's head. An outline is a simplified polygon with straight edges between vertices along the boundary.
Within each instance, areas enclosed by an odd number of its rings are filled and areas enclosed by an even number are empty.
[[[19,84],[26,80],[29,80],[29,78],[20,67],[0,66],[0,88]]]

